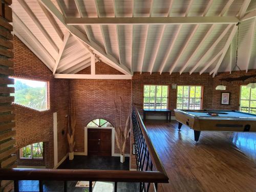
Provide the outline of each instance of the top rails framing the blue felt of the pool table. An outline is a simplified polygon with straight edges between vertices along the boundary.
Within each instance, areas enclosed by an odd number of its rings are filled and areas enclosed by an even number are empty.
[[[207,113],[207,111],[217,111],[217,110],[193,110],[195,111],[202,111]],[[248,120],[248,121],[256,121],[256,115],[255,114],[250,114],[250,113],[245,113],[245,112],[240,112],[240,111],[234,111],[234,110],[218,110],[219,112],[237,112],[237,113],[242,113],[242,114],[249,114],[250,116],[255,116],[255,117],[211,117],[211,116],[197,116],[197,115],[193,115],[188,113],[189,110],[174,110],[175,113],[182,113],[184,115],[187,115],[191,118],[194,119],[216,119],[216,120]]]

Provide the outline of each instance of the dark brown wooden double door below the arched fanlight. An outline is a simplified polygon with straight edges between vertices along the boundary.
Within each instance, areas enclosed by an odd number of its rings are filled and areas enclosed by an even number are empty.
[[[111,129],[88,129],[88,155],[111,156]]]

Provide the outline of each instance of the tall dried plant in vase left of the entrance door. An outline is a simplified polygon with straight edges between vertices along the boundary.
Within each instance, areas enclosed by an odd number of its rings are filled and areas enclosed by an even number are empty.
[[[75,102],[72,102],[70,99],[69,102],[69,116],[68,116],[68,143],[69,143],[69,160],[74,159],[74,135],[75,135],[75,127],[76,127],[76,111],[75,111]]]

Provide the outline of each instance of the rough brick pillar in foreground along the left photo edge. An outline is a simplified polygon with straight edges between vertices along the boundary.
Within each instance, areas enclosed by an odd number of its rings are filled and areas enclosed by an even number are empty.
[[[12,44],[12,10],[9,7],[11,0],[2,0],[0,5],[0,167],[16,167],[16,148],[15,144],[15,122],[14,107],[12,102],[14,88],[8,87],[8,84],[14,84],[9,75],[13,75],[13,44]],[[13,181],[1,181],[0,191],[10,191],[13,189]]]

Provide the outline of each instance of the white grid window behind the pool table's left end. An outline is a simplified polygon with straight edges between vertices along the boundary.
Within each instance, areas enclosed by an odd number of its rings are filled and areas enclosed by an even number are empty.
[[[177,109],[200,110],[201,100],[201,86],[177,86]]]

